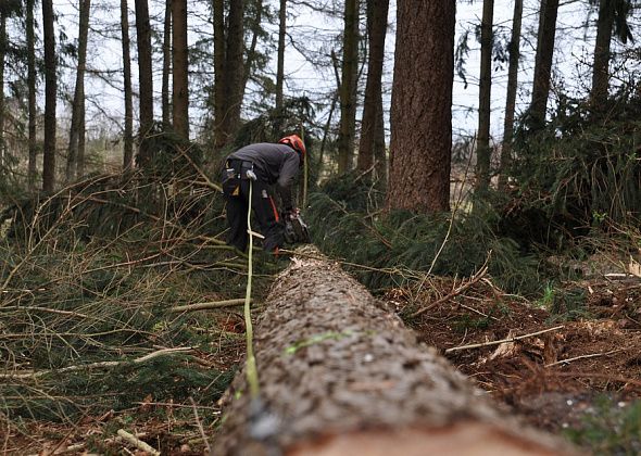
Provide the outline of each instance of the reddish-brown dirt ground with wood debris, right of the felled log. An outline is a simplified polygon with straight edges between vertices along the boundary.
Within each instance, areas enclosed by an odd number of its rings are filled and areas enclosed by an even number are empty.
[[[452,293],[461,283],[440,279],[422,293],[390,290],[385,299],[400,314]],[[592,279],[568,284],[582,295],[571,321],[479,281],[411,321],[419,340],[439,351],[482,390],[531,425],[552,432],[581,426],[594,402],[618,407],[641,392],[641,279]],[[557,311],[570,311],[568,302]],[[566,300],[567,301],[567,300]],[[539,305],[540,307],[538,307]],[[501,344],[447,352],[551,329]]]

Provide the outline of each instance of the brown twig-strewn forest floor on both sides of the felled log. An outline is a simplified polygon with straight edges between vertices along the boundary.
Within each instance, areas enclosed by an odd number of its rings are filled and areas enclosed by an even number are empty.
[[[595,276],[551,290],[536,303],[503,293],[489,278],[464,290],[461,286],[432,278],[419,292],[397,288],[382,299],[401,316],[441,300],[405,319],[422,342],[440,351],[506,413],[595,454],[639,453],[641,407],[633,401],[641,393],[640,278]],[[225,331],[225,352],[215,358],[193,355],[224,371],[242,362],[244,326],[238,312],[222,315],[215,325]],[[524,338],[497,343],[515,337]],[[150,454],[118,435],[126,427],[163,454],[199,455],[215,445],[210,436],[219,417],[217,404],[196,407],[147,396],[136,408],[86,416],[74,426],[25,420],[20,429],[2,429],[0,453]]]

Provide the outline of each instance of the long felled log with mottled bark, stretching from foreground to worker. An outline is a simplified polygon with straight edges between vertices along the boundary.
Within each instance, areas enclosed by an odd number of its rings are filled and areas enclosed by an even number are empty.
[[[299,252],[255,326],[260,402],[240,372],[214,454],[570,453],[505,417],[337,265]]]

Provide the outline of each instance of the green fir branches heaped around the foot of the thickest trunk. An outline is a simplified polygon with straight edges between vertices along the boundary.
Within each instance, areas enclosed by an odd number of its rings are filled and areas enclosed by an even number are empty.
[[[329,255],[366,266],[351,269],[370,289],[403,283],[416,273],[467,277],[488,261],[498,286],[538,295],[557,274],[539,252],[501,236],[500,216],[489,205],[477,204],[469,213],[385,214],[379,210],[382,195],[366,182],[348,177],[323,190],[311,194],[306,213],[314,243]]]

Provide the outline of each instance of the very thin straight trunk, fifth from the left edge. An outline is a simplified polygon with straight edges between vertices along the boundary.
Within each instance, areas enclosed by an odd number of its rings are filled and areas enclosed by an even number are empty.
[[[123,170],[134,166],[134,101],[131,90],[131,55],[129,11],[127,0],[121,0],[121,31],[123,37],[123,84],[125,88],[125,129],[123,139]]]

